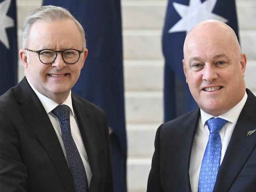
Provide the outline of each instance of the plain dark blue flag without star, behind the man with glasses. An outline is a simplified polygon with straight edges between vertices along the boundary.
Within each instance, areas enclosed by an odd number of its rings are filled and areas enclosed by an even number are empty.
[[[120,0],[44,0],[65,7],[81,22],[88,56],[72,89],[108,116],[114,191],[126,192],[126,130]]]

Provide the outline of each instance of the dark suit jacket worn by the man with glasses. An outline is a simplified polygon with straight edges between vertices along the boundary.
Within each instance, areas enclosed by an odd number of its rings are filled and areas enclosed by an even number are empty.
[[[71,94],[93,177],[90,192],[113,192],[108,121]],[[0,96],[0,192],[75,192],[58,137],[26,78]]]

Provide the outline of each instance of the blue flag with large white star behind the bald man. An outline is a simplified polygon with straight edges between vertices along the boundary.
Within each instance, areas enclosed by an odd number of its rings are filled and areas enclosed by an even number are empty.
[[[162,36],[165,57],[164,121],[197,108],[183,72],[183,44],[186,34],[207,19],[228,24],[237,34],[235,0],[169,0]]]

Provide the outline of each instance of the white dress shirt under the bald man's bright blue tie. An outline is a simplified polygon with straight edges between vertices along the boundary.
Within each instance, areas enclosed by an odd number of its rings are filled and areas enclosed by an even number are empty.
[[[230,141],[233,130],[236,126],[237,119],[243,109],[243,106],[245,105],[246,100],[247,100],[247,93],[245,92],[245,95],[243,96],[242,100],[239,103],[237,103],[228,112],[220,116],[217,116],[219,118],[223,118],[227,120],[227,123],[219,132],[219,134],[221,135],[221,144],[222,144],[221,162],[223,161],[224,155],[226,153],[226,149],[228,147],[228,143]],[[204,151],[210,135],[210,131],[208,129],[206,121],[214,117],[210,114],[205,113],[204,111],[202,111],[202,109],[200,109],[200,112],[201,112],[201,116],[198,122],[195,138],[193,140],[193,146],[192,146],[192,151],[190,156],[189,180],[190,180],[192,192],[198,191],[198,181],[199,181],[201,163],[204,157]],[[214,118],[217,118],[217,117],[214,117]]]

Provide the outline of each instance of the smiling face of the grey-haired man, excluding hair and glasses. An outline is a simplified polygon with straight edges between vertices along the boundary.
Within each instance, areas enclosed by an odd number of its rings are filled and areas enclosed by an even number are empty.
[[[84,50],[78,62],[72,65],[63,61],[61,53],[58,53],[54,63],[46,65],[41,63],[37,53],[20,50],[26,77],[35,89],[58,103],[64,102],[78,80],[87,56],[87,49],[83,48],[83,39],[76,24],[72,20],[37,21],[30,30],[27,48]]]

